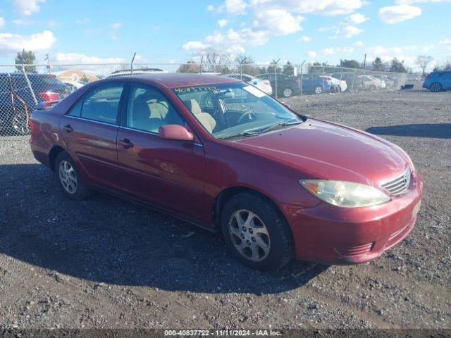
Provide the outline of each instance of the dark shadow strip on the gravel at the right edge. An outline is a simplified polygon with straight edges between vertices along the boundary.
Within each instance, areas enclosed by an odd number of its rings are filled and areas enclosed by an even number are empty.
[[[384,127],[369,127],[366,132],[371,132],[371,134],[377,135],[451,139],[451,123],[424,123],[414,125],[389,125]]]

